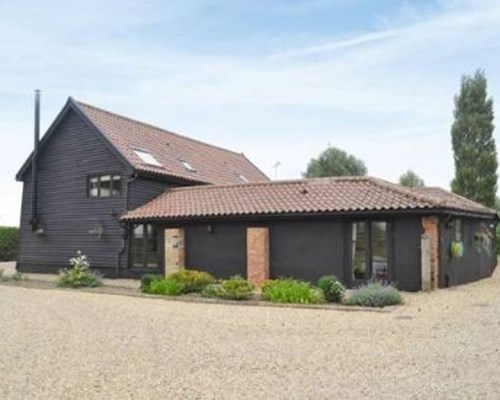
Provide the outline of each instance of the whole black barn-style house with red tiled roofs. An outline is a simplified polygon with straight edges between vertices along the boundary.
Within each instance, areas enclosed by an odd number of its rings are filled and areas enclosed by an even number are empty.
[[[81,250],[109,277],[191,267],[417,291],[496,266],[497,214],[458,195],[370,177],[269,181],[240,153],[71,98],[17,179],[20,271],[55,272]]]

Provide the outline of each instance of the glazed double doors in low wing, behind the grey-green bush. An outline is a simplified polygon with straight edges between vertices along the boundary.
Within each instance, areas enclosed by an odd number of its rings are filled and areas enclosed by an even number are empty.
[[[351,224],[350,278],[353,284],[371,279],[389,280],[386,221]]]

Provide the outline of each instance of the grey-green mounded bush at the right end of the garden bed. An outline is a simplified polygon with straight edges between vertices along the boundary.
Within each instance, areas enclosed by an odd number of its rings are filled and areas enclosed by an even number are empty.
[[[371,282],[355,289],[345,301],[350,306],[364,307],[385,307],[402,303],[403,298],[394,286],[380,282]]]

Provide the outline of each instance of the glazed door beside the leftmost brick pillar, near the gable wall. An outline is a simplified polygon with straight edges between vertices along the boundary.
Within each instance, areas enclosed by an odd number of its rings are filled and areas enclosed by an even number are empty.
[[[154,225],[140,224],[134,227],[131,258],[133,268],[158,267],[158,232]]]

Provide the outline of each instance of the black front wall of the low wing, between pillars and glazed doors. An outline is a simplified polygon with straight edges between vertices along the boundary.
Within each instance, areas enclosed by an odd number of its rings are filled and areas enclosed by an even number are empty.
[[[388,251],[391,278],[403,290],[421,287],[421,217],[392,216]],[[334,274],[351,284],[349,218],[213,221],[181,224],[186,234],[186,266],[221,278],[246,276],[246,229],[268,227],[270,277],[293,277],[316,283]],[[162,229],[165,226],[162,227]]]

